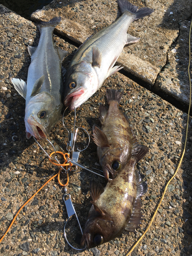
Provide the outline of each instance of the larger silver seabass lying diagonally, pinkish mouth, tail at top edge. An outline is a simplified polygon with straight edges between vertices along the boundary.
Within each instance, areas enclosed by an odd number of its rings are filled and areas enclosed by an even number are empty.
[[[66,72],[66,97],[64,103],[71,110],[91,97],[103,81],[122,69],[114,66],[124,45],[139,41],[126,33],[134,20],[151,14],[154,10],[118,0],[122,15],[79,47]]]

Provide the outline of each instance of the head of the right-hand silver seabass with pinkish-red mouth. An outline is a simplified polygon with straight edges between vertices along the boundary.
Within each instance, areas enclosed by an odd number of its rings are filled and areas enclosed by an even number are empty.
[[[78,108],[98,89],[97,74],[90,63],[80,62],[73,67],[72,73],[66,78],[66,97],[64,104],[70,110]]]

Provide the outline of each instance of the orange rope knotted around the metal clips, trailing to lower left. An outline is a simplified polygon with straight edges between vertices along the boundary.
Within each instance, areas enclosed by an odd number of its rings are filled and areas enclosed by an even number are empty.
[[[51,153],[51,154],[50,154],[50,157],[51,157],[54,153],[55,153],[55,152]],[[50,160],[50,162],[51,162],[52,164],[57,165],[57,166],[70,166],[70,167],[73,165],[72,163],[68,163],[68,160],[67,160],[67,157],[69,157],[69,154],[68,154],[68,153],[63,154],[63,153],[60,152],[60,151],[56,151],[56,153],[62,155],[63,158],[65,159],[65,162],[64,162],[63,164],[58,164],[58,163],[54,163],[54,161],[56,161],[56,160],[51,160],[51,159],[49,158],[49,160]],[[55,174],[53,177],[51,177],[48,181],[46,181],[46,183],[45,183],[44,185],[42,185],[42,186],[35,192],[35,194],[34,194],[32,197],[30,197],[30,199],[28,199],[27,202],[25,202],[25,204],[24,204],[22,207],[20,207],[20,209],[19,209],[18,212],[16,213],[15,217],[13,218],[13,220],[12,220],[10,226],[8,227],[7,231],[5,232],[5,234],[3,235],[3,237],[0,239],[0,243],[3,241],[4,237],[5,237],[6,234],[9,232],[9,230],[10,230],[10,228],[12,227],[12,225],[13,225],[15,219],[17,218],[19,212],[24,208],[24,206],[26,206],[26,204],[28,204],[28,203],[31,201],[31,199],[33,199],[33,198],[37,195],[37,193],[38,193],[42,188],[45,187],[45,185],[47,185],[48,182],[50,182],[52,179],[54,179],[56,176],[58,176],[57,179],[58,179],[58,182],[59,182],[59,184],[60,184],[61,186],[67,186],[67,185],[68,185],[68,183],[69,183],[69,174],[68,174],[68,173],[67,173],[67,182],[66,182],[66,184],[62,184],[62,183],[60,182],[60,172],[61,172],[61,169],[62,169],[62,168],[60,167],[59,172],[58,172],[57,174]]]

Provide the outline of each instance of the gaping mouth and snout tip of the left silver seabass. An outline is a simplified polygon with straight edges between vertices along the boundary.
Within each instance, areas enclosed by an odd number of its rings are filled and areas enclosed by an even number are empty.
[[[48,138],[48,133],[45,131],[44,127],[39,124],[33,116],[30,116],[26,124],[26,137],[30,139],[34,136],[36,139]]]

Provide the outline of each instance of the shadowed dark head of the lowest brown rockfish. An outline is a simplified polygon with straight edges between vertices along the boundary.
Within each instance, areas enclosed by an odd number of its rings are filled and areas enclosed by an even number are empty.
[[[88,248],[92,248],[106,243],[112,239],[113,231],[114,222],[111,220],[102,218],[88,219],[80,245],[87,244]]]

